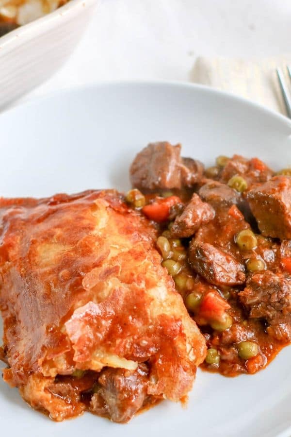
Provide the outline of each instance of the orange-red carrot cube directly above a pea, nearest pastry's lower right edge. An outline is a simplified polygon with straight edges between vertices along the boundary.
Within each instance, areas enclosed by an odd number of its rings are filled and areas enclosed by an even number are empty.
[[[229,308],[229,303],[220,296],[218,291],[213,290],[204,296],[199,308],[199,316],[207,320],[220,321]]]

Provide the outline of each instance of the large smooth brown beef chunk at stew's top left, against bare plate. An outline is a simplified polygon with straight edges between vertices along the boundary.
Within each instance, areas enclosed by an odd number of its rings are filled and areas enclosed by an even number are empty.
[[[140,151],[130,166],[134,187],[154,191],[192,186],[202,178],[203,164],[180,157],[181,145],[151,143]]]

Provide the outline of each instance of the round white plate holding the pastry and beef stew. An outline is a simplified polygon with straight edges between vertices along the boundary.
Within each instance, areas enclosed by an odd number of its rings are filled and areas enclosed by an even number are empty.
[[[16,107],[0,115],[0,193],[129,187],[134,154],[149,141],[183,144],[183,155],[210,164],[216,155],[259,156],[291,165],[291,123],[255,104],[202,86],[103,84]],[[54,423],[0,382],[3,435],[277,437],[291,435],[291,348],[256,375],[225,378],[198,371],[187,409],[164,402],[128,425],[89,413]],[[289,431],[288,431],[289,430]]]

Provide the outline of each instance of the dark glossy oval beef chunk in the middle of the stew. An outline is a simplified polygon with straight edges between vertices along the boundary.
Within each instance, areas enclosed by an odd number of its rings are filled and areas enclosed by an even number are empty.
[[[209,243],[190,243],[189,262],[210,284],[233,286],[243,284],[244,267],[232,255]]]

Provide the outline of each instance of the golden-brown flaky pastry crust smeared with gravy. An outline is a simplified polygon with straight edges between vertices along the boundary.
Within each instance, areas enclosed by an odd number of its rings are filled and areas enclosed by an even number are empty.
[[[4,379],[33,407],[55,420],[78,415],[81,388],[77,401],[60,400],[47,388],[57,375],[134,372],[145,362],[148,396],[187,395],[205,340],[161,266],[155,238],[113,190],[0,199]]]

